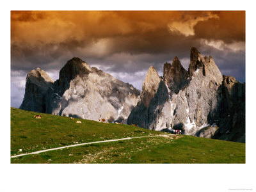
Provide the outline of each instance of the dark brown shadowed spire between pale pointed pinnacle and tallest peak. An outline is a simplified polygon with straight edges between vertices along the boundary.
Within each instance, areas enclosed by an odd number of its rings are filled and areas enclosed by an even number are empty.
[[[173,58],[172,65],[170,63],[164,63],[163,79],[171,93],[177,94],[180,89],[186,86],[188,72],[182,67],[177,56]]]

